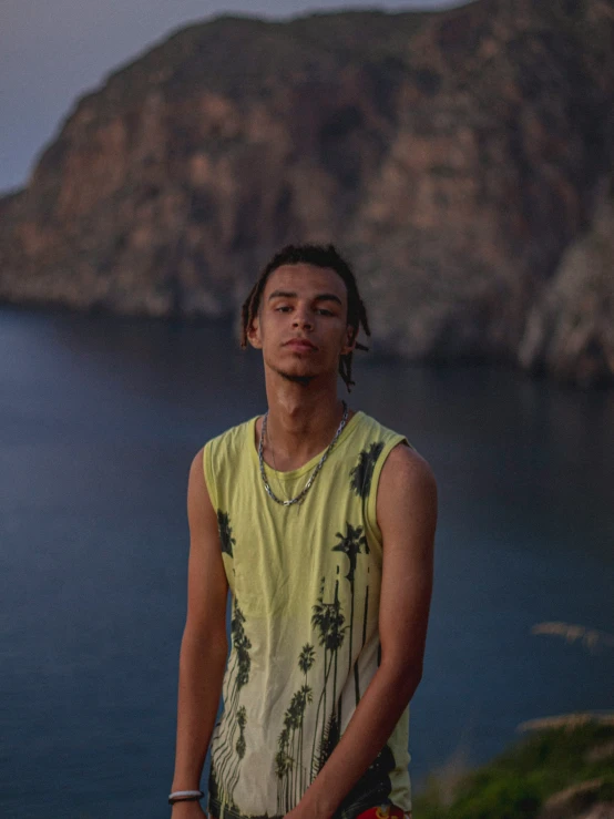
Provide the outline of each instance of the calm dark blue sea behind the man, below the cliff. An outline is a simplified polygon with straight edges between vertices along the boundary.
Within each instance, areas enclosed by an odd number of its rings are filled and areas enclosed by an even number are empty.
[[[614,393],[493,367],[356,365],[351,405],[439,480],[412,776],[479,764],[523,720],[614,708]],[[163,819],[185,615],[185,489],[265,407],[223,325],[0,310],[0,816]]]

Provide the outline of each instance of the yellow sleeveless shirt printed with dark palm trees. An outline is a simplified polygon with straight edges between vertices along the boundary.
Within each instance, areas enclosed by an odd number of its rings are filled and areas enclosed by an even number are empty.
[[[282,506],[259,473],[256,418],[208,441],[205,481],[232,594],[224,708],[212,735],[208,809],[216,819],[282,819],[345,731],[380,661],[382,539],[377,488],[403,436],[357,412],[304,500]],[[409,444],[411,446],[411,444]],[[265,465],[278,498],[300,469]],[[411,808],[409,706],[336,812]]]

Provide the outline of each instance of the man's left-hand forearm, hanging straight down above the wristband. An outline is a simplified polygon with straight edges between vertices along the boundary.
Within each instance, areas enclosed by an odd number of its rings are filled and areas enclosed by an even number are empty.
[[[173,790],[198,788],[219,705],[226,651],[225,635],[203,644],[190,633],[184,633],[180,654]]]

